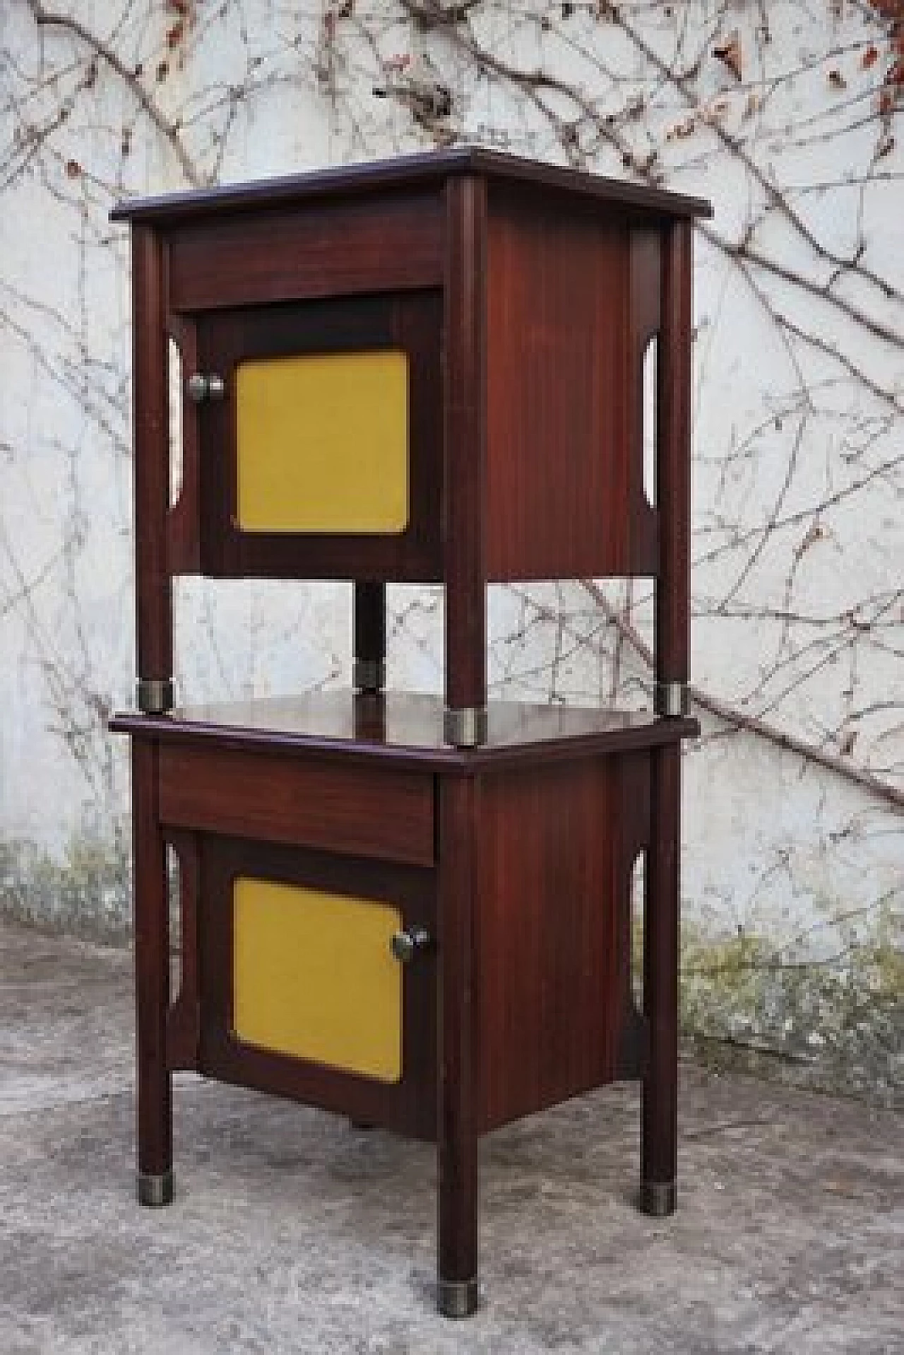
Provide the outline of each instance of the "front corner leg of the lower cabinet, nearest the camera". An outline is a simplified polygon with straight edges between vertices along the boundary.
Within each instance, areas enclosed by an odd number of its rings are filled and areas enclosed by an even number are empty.
[[[443,778],[439,809],[438,1308],[477,1308],[477,1096],[474,1005],[476,797]]]

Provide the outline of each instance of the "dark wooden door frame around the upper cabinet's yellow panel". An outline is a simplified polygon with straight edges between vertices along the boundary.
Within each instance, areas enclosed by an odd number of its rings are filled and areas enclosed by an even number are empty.
[[[440,289],[214,310],[179,324],[224,398],[186,405],[198,458],[201,572],[222,577],[442,579],[443,297]],[[237,369],[244,362],[401,352],[408,367],[408,522],[398,533],[267,531],[239,526]],[[184,363],[183,363],[184,364]],[[183,374],[183,375],[187,375]],[[176,507],[176,514],[178,514]],[[178,565],[178,561],[173,560]],[[173,570],[175,572],[175,570]]]

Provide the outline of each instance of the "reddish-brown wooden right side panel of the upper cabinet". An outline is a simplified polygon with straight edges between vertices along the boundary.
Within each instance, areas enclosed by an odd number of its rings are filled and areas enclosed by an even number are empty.
[[[630,229],[491,194],[488,573],[652,572],[630,420]]]

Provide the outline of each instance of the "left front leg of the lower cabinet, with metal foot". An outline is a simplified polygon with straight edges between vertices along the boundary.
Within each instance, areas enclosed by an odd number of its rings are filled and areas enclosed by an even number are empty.
[[[172,1075],[167,1066],[169,890],[157,816],[157,749],[133,740],[137,1188],[141,1205],[172,1201]]]

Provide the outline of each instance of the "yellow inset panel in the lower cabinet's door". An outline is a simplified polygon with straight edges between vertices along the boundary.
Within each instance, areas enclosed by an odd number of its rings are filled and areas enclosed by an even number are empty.
[[[241,877],[233,889],[233,1024],[247,1045],[382,1083],[401,1079],[397,908]]]

